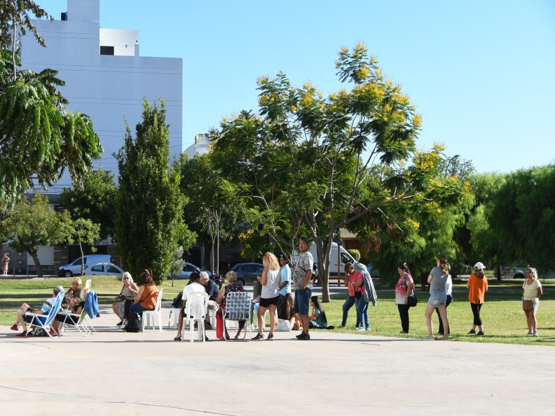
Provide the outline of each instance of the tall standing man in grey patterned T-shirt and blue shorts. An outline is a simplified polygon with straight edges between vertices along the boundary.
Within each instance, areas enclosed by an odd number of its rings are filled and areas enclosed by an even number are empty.
[[[299,239],[300,255],[297,264],[293,269],[293,288],[295,289],[295,304],[293,311],[298,313],[300,322],[302,323],[302,332],[297,336],[298,340],[309,340],[308,333],[308,311],[310,306],[310,297],[312,296],[312,266],[314,259],[308,251],[309,244],[306,237]]]

